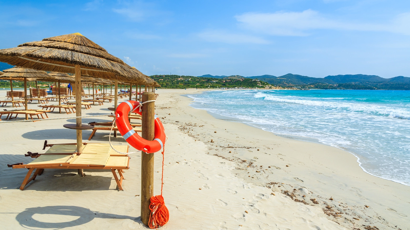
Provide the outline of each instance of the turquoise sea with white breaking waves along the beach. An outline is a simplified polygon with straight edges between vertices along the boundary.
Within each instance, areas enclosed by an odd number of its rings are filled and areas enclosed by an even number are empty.
[[[410,91],[213,90],[194,108],[344,149],[374,176],[410,186]]]

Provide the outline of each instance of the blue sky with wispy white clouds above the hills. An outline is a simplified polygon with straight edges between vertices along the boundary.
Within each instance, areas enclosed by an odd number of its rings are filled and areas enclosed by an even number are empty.
[[[147,75],[410,77],[410,1],[0,1],[0,49],[79,32]]]

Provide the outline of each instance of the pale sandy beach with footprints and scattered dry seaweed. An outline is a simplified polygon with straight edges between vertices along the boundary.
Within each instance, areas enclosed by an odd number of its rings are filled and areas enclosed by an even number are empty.
[[[155,111],[168,137],[163,196],[170,219],[163,229],[410,229],[409,186],[365,173],[342,149],[280,137],[190,107],[192,99],[184,94],[202,91],[157,90]],[[5,99],[6,91],[0,93]],[[111,113],[107,108],[113,105],[92,106],[82,114]],[[83,118],[82,123],[93,121],[112,120]],[[67,123],[75,119],[0,124],[1,228],[146,228],[139,218],[141,153],[130,154],[124,191],[109,171],[84,170],[80,177],[57,169],[46,169],[18,189],[27,170],[7,164],[30,162],[24,153],[44,151],[44,140],[74,143],[75,131],[63,127]],[[90,134],[83,131],[84,142],[108,143],[108,131],[97,131],[88,141]],[[121,135],[111,140],[127,144]],[[161,192],[161,166],[162,155],[155,153],[155,195]]]

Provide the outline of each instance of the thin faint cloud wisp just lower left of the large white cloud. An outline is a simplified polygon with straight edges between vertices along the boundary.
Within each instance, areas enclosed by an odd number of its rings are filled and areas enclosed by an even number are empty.
[[[225,31],[205,31],[198,34],[200,38],[205,39],[210,42],[222,42],[229,44],[238,44],[238,43],[255,43],[255,44],[266,44],[269,43],[263,38],[247,35],[247,34],[234,34],[228,33]]]

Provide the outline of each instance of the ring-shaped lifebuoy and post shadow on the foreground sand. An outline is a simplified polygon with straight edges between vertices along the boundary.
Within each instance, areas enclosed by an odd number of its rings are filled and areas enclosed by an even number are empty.
[[[37,221],[33,219],[34,214],[45,214],[45,215],[55,214],[55,215],[63,215],[67,217],[75,216],[78,218],[73,221],[52,223],[52,222]],[[78,207],[78,206],[68,206],[68,205],[67,206],[58,205],[58,206],[46,206],[46,207],[30,207],[24,210],[23,212],[20,212],[16,216],[16,220],[24,228],[41,228],[41,229],[43,228],[59,229],[59,228],[69,228],[69,227],[79,226],[79,225],[92,221],[94,218],[130,219],[137,223],[142,223],[140,216],[134,217],[134,216],[109,214],[109,213],[103,213],[103,212],[93,212],[89,210],[88,208]]]

